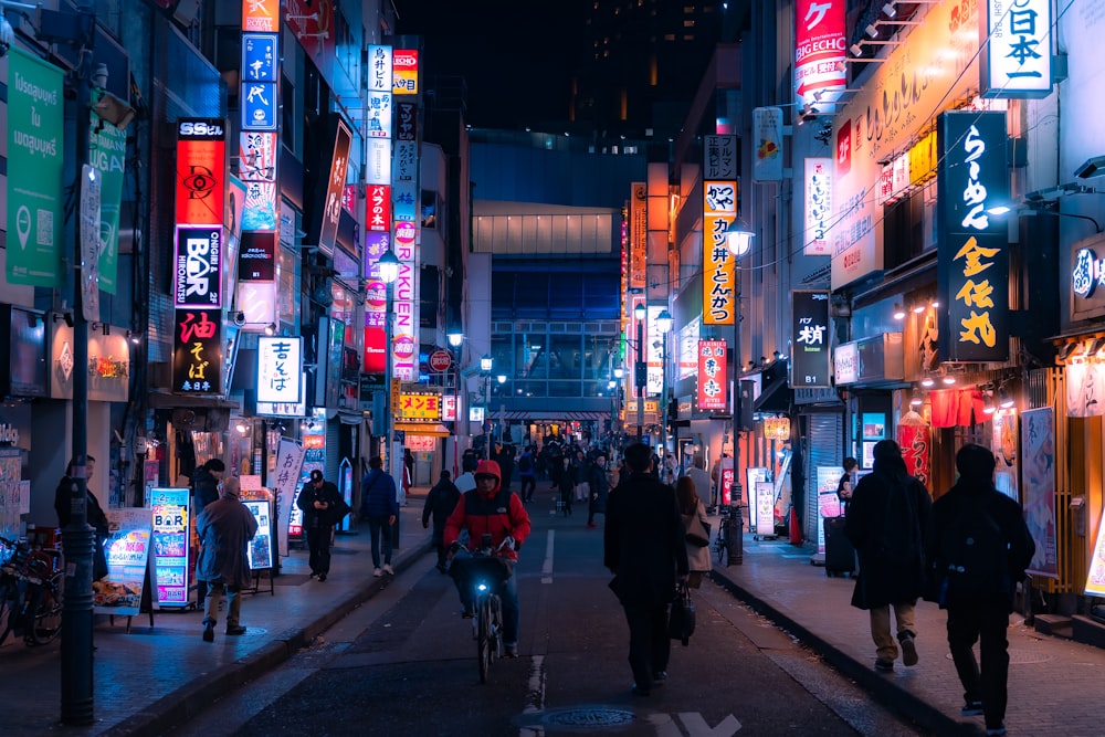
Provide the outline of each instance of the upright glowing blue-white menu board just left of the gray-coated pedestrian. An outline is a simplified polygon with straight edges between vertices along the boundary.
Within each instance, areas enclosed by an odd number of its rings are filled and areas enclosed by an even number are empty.
[[[188,606],[189,494],[187,488],[155,488],[149,496],[154,515],[154,582],[161,607]]]

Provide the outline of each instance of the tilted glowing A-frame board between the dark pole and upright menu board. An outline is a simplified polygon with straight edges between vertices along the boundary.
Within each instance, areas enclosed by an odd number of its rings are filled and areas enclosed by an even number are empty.
[[[108,509],[107,524],[107,576],[92,582],[92,610],[97,614],[135,617],[146,583],[152,513],[135,507]]]

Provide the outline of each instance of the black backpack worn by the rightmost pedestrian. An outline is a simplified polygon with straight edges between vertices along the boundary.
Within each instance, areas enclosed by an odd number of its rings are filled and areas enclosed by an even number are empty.
[[[987,508],[986,501],[965,507],[940,539],[939,569],[944,577],[939,603],[947,594],[1008,594],[1009,540]]]

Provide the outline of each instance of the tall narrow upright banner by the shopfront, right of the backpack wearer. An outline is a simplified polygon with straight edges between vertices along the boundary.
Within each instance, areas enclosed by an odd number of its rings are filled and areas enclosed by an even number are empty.
[[[1059,578],[1059,536],[1055,528],[1055,410],[1045,407],[1021,413],[1024,453],[1024,523],[1036,545],[1028,571]]]

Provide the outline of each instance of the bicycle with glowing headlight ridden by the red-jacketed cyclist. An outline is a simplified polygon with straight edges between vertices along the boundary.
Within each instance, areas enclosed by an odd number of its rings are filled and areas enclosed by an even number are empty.
[[[455,556],[450,573],[467,590],[465,617],[472,619],[472,635],[476,641],[476,660],[480,666],[480,683],[487,682],[487,670],[492,661],[503,656],[503,600],[499,597],[503,583],[514,572],[513,561],[499,556],[507,545],[504,539],[497,548],[492,548],[491,535],[484,535],[478,550],[470,556]]]

